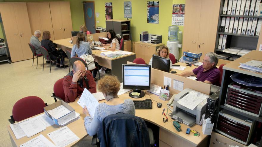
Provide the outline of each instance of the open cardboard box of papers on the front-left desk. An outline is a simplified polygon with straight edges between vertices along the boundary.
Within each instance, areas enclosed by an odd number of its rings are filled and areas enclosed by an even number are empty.
[[[65,106],[66,108],[68,108],[71,112],[68,113],[68,114],[66,114],[66,115],[64,115],[64,116],[62,116],[62,117],[60,117],[60,118],[55,119],[55,118],[52,117],[47,111],[48,111],[48,110],[52,110],[52,109],[54,109],[54,108],[57,108],[57,107],[60,106],[60,105],[64,105],[64,106]],[[66,122],[66,121],[68,121],[69,119],[71,119],[71,118],[73,118],[73,117],[76,116],[75,110],[74,110],[70,105],[68,105],[66,102],[61,101],[61,100],[60,100],[60,101],[57,101],[57,102],[55,102],[55,103],[53,103],[53,104],[51,104],[51,105],[48,105],[48,106],[44,107],[44,111],[45,111],[46,115],[49,116],[51,119],[53,119],[54,123],[57,124],[57,125],[61,125],[61,124],[63,124],[64,122]]]

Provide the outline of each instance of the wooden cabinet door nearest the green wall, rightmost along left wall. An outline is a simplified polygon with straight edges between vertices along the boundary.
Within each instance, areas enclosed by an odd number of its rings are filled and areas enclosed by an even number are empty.
[[[60,2],[60,9],[63,23],[64,38],[71,38],[71,31],[73,31],[73,27],[69,1]]]

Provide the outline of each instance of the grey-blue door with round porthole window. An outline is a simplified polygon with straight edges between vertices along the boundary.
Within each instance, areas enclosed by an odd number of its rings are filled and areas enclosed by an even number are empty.
[[[92,34],[96,33],[95,1],[83,1],[85,26]]]

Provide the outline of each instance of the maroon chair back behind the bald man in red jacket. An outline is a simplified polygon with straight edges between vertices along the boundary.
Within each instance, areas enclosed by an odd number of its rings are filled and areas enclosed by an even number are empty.
[[[54,83],[54,88],[53,88],[54,92],[51,97],[54,98],[55,102],[57,102],[57,99],[65,102],[66,96],[63,88],[63,80],[64,78],[61,78]]]

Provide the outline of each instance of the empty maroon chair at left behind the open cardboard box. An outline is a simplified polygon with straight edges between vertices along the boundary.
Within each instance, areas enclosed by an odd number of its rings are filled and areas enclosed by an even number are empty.
[[[12,112],[13,115],[10,116],[11,119],[8,119],[8,121],[11,124],[14,124],[15,121],[21,121],[26,118],[38,115],[44,112],[44,107],[46,106],[47,103],[45,103],[39,97],[24,97],[15,103]]]

